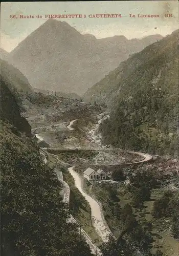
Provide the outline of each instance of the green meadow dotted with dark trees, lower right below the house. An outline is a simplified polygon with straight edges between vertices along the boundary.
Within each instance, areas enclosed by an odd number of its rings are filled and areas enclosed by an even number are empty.
[[[171,248],[176,253],[177,194],[164,193],[163,178],[154,165],[123,168],[119,179],[121,176],[128,177],[129,184],[119,181],[89,188],[89,194],[101,202],[106,222],[117,238],[101,245],[103,255],[136,256],[140,252],[146,256],[170,256]]]

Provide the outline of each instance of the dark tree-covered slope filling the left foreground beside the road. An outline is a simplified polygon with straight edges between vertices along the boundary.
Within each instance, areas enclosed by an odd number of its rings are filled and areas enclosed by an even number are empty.
[[[44,164],[20,116],[15,96],[1,78],[1,255],[90,256],[77,227],[68,222],[61,183]],[[28,135],[28,136],[27,136]]]

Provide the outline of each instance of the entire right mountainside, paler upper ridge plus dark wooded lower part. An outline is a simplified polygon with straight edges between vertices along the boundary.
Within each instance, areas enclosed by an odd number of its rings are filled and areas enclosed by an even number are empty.
[[[121,63],[93,90],[113,106],[100,127],[104,143],[177,155],[178,31]]]

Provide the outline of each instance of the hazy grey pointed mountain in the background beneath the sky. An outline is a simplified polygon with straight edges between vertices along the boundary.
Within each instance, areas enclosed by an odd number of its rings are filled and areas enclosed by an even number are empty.
[[[9,61],[35,88],[82,95],[130,54],[161,38],[157,34],[131,40],[123,35],[97,39],[49,19],[20,42]]]

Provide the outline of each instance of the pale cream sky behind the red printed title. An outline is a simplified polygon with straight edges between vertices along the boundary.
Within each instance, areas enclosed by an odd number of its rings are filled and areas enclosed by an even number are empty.
[[[42,18],[36,18],[36,15]],[[59,18],[81,34],[96,38],[124,35],[127,39],[152,34],[165,36],[178,29],[178,1],[108,1],[108,2],[3,2],[1,4],[1,48],[12,51],[20,41],[41,26],[48,14],[82,14],[86,18]],[[121,14],[121,18],[89,18],[89,14]],[[135,14],[135,18],[129,17]],[[159,18],[139,18],[138,14],[157,15]],[[172,17],[165,17],[172,14]],[[10,18],[17,15],[17,18]],[[35,15],[35,18],[19,18]],[[47,38],[48,39],[48,38]]]

